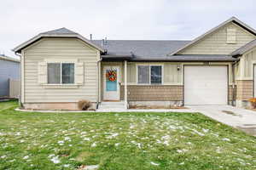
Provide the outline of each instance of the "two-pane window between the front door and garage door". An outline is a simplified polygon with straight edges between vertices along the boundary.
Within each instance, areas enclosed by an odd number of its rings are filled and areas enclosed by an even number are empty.
[[[137,65],[138,84],[162,84],[162,65]]]

